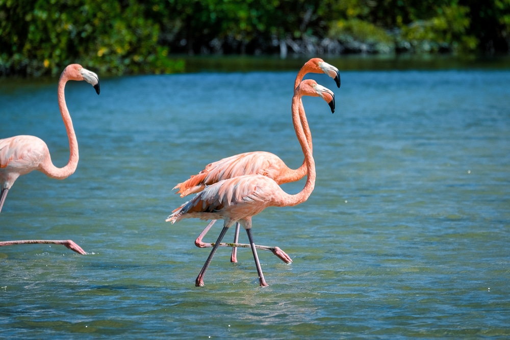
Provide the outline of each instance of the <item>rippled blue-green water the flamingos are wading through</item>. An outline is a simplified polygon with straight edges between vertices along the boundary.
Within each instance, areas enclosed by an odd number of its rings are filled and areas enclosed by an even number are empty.
[[[250,251],[231,264],[220,248],[194,287],[209,249],[193,241],[206,222],[164,222],[184,202],[171,189],[244,151],[298,167],[295,74],[101,78],[99,96],[68,83],[78,170],[20,177],[1,239],[72,239],[90,254],[0,248],[0,338],[510,336],[507,70],[344,71],[341,89],[312,75],[337,99],[331,115],[304,98],[315,191],[253,218],[255,241],[293,263],[260,251],[261,289]],[[66,163],[55,80],[2,80],[0,103],[0,136],[36,135]]]

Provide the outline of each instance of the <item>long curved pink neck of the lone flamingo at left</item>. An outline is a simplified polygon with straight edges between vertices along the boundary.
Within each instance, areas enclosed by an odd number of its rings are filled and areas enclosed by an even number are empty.
[[[68,77],[65,72],[66,72],[65,70],[64,72],[62,72],[62,75],[60,76],[59,80],[58,101],[60,113],[62,115],[62,120],[64,121],[65,129],[67,132],[67,138],[69,139],[69,152],[70,152],[69,162],[67,162],[67,165],[64,166],[63,168],[57,168],[52,163],[51,158],[48,157],[46,161],[42,164],[41,169],[41,171],[45,173],[48,177],[57,179],[64,179],[73,174],[78,166],[79,159],[78,141],[76,139],[76,135],[74,134],[71,116],[69,115],[69,111],[67,110],[67,105],[65,103],[64,87],[68,81]]]

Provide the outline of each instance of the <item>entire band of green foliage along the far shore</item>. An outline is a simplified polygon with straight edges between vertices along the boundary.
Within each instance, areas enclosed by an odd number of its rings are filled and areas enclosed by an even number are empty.
[[[339,45],[508,53],[510,0],[0,0],[0,75],[58,75],[74,62],[102,74],[180,72],[170,52]]]

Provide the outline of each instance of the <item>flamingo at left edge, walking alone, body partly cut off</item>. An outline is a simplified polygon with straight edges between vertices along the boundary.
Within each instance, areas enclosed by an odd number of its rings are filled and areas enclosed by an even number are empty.
[[[68,65],[60,75],[58,85],[58,101],[60,113],[67,130],[69,139],[69,162],[63,168],[57,168],[52,163],[46,143],[35,136],[14,136],[0,139],[0,212],[4,205],[7,193],[14,181],[20,176],[33,170],[38,170],[46,176],[56,179],[64,179],[74,173],[78,166],[78,141],[72,127],[71,116],[65,103],[64,87],[67,81],[86,81],[90,83],[99,94],[99,79],[97,74],[83,68],[78,64]],[[87,254],[78,244],[71,240],[23,240],[3,241],[1,246],[15,244],[60,244],[79,254]]]

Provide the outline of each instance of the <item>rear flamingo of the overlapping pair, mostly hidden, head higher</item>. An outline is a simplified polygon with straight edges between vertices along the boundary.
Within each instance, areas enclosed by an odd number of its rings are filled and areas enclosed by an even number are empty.
[[[338,68],[326,63],[320,58],[312,58],[306,62],[299,70],[296,80],[294,81],[294,89],[302,81],[307,73],[325,73],[333,78],[340,87],[340,72]],[[302,110],[300,107],[299,110]],[[301,115],[302,119],[306,119],[305,115]],[[308,123],[302,124],[308,127]],[[310,129],[305,128],[304,134],[307,142],[312,150],[312,138]],[[306,164],[303,161],[298,169],[290,169],[284,161],[277,155],[266,151],[245,152],[221,159],[217,162],[210,163],[205,169],[196,175],[192,175],[188,180],[177,184],[173,189],[179,189],[176,194],[181,197],[200,192],[207,185],[216,183],[222,179],[233,178],[240,175],[262,174],[276,181],[277,184],[284,184],[300,180],[307,174]],[[195,245],[199,248],[212,247],[210,243],[203,243],[202,238],[207,234],[216,220],[212,220],[195,240]],[[239,223],[236,223],[234,243],[239,239]],[[247,245],[245,245],[247,246]],[[276,256],[281,258],[285,263],[292,263],[292,259],[279,247],[261,246],[259,249],[272,251]],[[237,262],[237,247],[233,247],[231,262]]]

